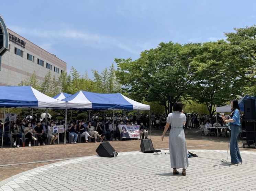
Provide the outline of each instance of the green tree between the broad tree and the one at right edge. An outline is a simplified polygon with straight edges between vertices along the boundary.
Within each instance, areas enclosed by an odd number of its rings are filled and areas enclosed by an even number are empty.
[[[192,62],[197,67],[192,96],[206,104],[211,117],[216,107],[237,94],[236,76],[230,72],[234,56],[230,54],[229,46],[224,40],[203,43]]]

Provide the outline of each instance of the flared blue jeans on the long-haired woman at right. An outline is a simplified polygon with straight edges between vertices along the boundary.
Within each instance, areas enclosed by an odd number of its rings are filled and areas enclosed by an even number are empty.
[[[231,138],[230,138],[231,163],[238,164],[242,162],[242,158],[241,158],[238,143],[237,143],[237,136],[240,133],[240,126],[231,124],[230,128],[231,128]]]

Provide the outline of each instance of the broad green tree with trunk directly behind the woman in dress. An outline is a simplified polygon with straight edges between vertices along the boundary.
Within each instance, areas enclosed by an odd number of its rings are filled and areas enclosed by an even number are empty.
[[[115,59],[116,77],[124,91],[136,101],[156,101],[172,112],[172,105],[186,97],[195,79],[191,62],[200,44],[164,43],[155,49],[145,50],[140,58]]]

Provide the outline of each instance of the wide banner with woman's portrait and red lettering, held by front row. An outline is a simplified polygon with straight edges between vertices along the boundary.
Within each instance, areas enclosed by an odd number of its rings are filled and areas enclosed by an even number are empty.
[[[121,139],[140,139],[140,126],[118,125]]]

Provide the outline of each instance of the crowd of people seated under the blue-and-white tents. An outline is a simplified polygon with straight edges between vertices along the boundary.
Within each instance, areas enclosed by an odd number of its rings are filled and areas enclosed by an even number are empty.
[[[16,122],[5,122],[4,124],[0,122],[0,131],[4,131],[4,143],[6,145],[13,141],[13,147],[19,148],[22,144],[20,140],[23,140],[23,136],[25,141],[28,141],[26,143],[28,143],[29,147],[34,141],[37,141],[38,146],[56,144],[55,142],[58,138],[62,138],[62,141],[67,142],[69,136],[70,143],[76,144],[79,135],[82,139],[81,142],[85,143],[89,143],[89,139],[93,142],[112,139],[114,141],[127,140],[128,137],[123,139],[120,132],[120,126],[124,124],[140,126],[140,139],[143,137],[145,139],[148,138],[149,116],[145,114],[144,118],[144,115],[140,113],[134,113],[133,115],[115,113],[113,116],[104,115],[102,118],[98,117],[97,114],[93,114],[87,119],[67,121],[66,140],[64,140],[64,133],[58,134],[53,131],[53,127],[56,125],[64,125],[65,128],[65,119],[47,118],[46,122],[46,118],[34,119],[30,114],[25,116],[23,120],[17,119]],[[127,133],[127,130],[124,133]]]

